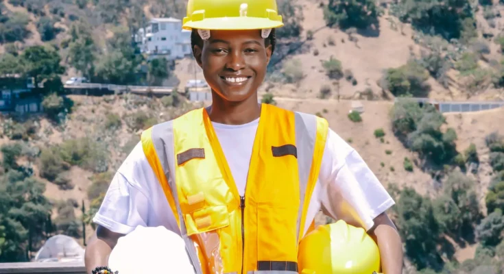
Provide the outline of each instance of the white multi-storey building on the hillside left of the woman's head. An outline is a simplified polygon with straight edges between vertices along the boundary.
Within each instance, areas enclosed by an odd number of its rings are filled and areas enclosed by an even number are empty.
[[[191,54],[191,31],[182,29],[177,18],[153,18],[135,37],[141,52],[173,60]]]

